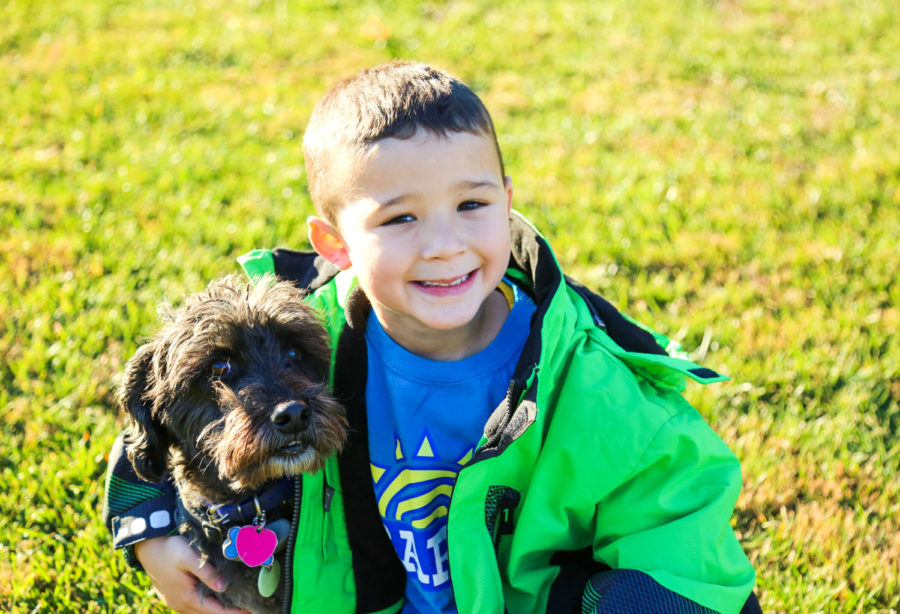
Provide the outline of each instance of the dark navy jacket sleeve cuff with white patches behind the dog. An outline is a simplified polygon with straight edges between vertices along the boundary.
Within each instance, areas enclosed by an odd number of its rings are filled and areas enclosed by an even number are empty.
[[[165,479],[150,484],[139,478],[125,452],[124,433],[119,434],[109,454],[103,499],[103,524],[109,529],[114,548],[124,548],[125,558],[138,566],[134,544],[176,531],[175,489]]]

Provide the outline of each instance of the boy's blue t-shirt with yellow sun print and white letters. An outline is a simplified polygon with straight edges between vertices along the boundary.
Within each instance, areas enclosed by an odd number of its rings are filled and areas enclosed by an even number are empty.
[[[506,396],[535,309],[521,290],[509,288],[504,294],[514,302],[500,332],[458,361],[416,356],[369,316],[369,461],[378,510],[407,570],[404,614],[456,612],[447,554],[450,495]]]

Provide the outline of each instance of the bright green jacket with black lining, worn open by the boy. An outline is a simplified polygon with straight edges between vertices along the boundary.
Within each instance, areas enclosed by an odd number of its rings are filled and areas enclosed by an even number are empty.
[[[663,602],[694,602],[683,611],[738,612],[755,581],[730,524],[740,466],[681,396],[686,377],[726,378],[667,355],[667,339],[565,278],[517,215],[512,245],[508,276],[537,310],[506,400],[453,490],[459,611],[594,612],[638,578]],[[397,611],[406,576],[368,465],[367,299],[350,273],[311,253],[257,250],[240,261],[251,277],[275,272],[309,290],[351,424],[345,451],[302,479],[291,611]]]

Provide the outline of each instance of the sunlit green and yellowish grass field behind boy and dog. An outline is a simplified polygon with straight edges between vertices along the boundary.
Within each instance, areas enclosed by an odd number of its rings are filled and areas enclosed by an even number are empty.
[[[767,612],[900,610],[900,20],[889,0],[0,3],[0,609],[152,612],[100,523],[117,374],[306,245],[300,139],[393,57],[494,115],[564,267],[731,381]]]

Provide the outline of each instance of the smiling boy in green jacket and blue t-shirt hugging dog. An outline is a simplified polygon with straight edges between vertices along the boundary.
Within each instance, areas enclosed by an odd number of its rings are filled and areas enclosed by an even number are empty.
[[[741,610],[740,468],[680,395],[724,378],[563,276],[512,212],[477,96],[423,65],[363,71],[319,102],[304,153],[319,257],[242,259],[309,291],[351,424],[303,478],[292,611]],[[115,533],[131,512],[108,498]],[[151,536],[117,545],[148,571],[184,552]]]

